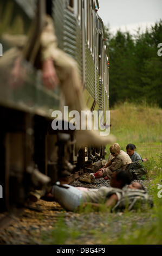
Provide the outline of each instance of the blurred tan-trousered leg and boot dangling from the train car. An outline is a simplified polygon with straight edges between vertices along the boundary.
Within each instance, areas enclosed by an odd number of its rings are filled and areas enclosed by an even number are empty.
[[[89,121],[92,119],[91,112],[88,113],[87,120],[81,119],[81,111],[87,111],[87,108],[83,97],[79,70],[75,60],[57,49],[55,50],[54,66],[67,106],[71,111],[79,112],[78,122],[80,129],[75,132],[76,144],[81,147],[85,147],[86,145],[98,147],[102,144],[112,144],[115,141],[115,137],[112,135],[100,136],[99,131],[94,130],[93,122],[92,129],[88,130]],[[81,124],[85,125],[85,130],[81,129]]]

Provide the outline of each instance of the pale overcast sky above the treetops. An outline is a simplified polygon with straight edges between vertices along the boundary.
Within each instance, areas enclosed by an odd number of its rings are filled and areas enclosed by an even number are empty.
[[[133,34],[139,26],[145,31],[162,19],[162,0],[99,0],[99,5],[98,14],[114,33],[120,28]]]

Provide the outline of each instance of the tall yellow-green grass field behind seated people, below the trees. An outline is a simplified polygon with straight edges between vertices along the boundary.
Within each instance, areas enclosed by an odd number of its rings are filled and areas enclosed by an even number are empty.
[[[128,143],[136,143],[139,149],[139,144],[142,144],[151,152],[152,147],[161,145],[162,109],[158,107],[125,102],[111,111],[111,124],[111,133],[116,136],[121,148]]]

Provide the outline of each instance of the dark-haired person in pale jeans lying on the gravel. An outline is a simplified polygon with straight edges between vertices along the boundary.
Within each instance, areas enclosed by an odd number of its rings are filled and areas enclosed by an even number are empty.
[[[93,209],[99,210],[102,205],[112,208],[122,197],[122,188],[126,184],[131,184],[131,177],[125,170],[116,170],[110,182],[111,187],[100,187],[98,189],[73,187],[68,184],[54,185],[50,193],[54,199],[68,211],[75,211],[91,205]],[[135,182],[137,183],[137,182]],[[140,188],[133,185],[132,189]],[[141,188],[140,188],[141,189]],[[48,196],[48,195],[47,195]]]

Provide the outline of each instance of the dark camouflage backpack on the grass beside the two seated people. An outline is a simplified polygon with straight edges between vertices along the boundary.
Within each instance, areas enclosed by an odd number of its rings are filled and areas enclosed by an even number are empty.
[[[130,163],[126,170],[131,174],[132,178],[135,180],[141,179],[141,176],[147,174],[147,170],[144,167],[144,163],[141,161],[135,161],[133,163]]]

